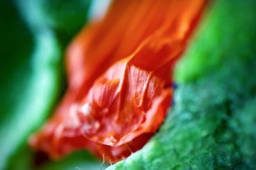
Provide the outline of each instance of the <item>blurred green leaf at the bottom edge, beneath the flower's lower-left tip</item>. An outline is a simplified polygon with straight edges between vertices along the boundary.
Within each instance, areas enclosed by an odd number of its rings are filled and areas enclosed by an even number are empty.
[[[45,160],[45,155],[34,155],[29,147],[22,147],[19,150],[19,156],[13,158],[12,164],[9,164],[6,169],[9,170],[99,170],[105,169],[106,165],[99,160],[95,160],[91,153],[82,150],[79,152],[70,153],[61,160]]]

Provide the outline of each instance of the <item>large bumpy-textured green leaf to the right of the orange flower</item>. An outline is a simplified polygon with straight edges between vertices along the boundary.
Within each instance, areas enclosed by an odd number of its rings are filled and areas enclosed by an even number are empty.
[[[212,1],[175,71],[170,113],[109,169],[256,169],[256,1]]]

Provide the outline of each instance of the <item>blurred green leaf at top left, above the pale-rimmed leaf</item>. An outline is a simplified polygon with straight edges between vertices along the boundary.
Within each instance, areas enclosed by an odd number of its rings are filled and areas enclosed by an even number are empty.
[[[47,27],[67,43],[86,23],[90,0],[14,0],[33,31]]]

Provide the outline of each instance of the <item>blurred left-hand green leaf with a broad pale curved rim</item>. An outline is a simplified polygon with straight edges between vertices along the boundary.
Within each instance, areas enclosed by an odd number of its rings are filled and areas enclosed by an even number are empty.
[[[3,31],[6,41],[1,42],[0,169],[31,130],[42,124],[61,89],[61,52],[54,34],[50,30],[32,34],[22,27],[13,7],[6,13],[16,15],[13,20],[4,18],[10,25]]]

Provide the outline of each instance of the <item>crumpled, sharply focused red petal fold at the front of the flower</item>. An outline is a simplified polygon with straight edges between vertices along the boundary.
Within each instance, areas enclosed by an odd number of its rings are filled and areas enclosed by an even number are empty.
[[[77,112],[81,133],[97,143],[123,145],[140,134],[155,132],[170,101],[170,85],[154,72],[122,60],[95,81],[82,102]]]

